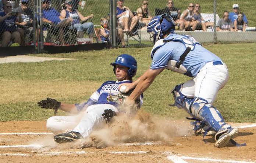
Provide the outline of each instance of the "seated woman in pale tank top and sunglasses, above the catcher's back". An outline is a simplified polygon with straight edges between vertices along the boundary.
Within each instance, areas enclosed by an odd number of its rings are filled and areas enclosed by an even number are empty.
[[[179,26],[180,30],[183,30],[183,28],[185,30],[195,30],[194,27],[197,26],[198,22],[195,21],[195,18],[193,18],[194,16],[194,4],[193,3],[189,3],[188,5],[188,9],[183,11],[181,14],[181,21],[184,21],[184,26],[182,27],[181,25]]]

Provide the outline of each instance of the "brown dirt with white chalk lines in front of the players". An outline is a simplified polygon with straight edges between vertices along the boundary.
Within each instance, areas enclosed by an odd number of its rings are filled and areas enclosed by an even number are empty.
[[[201,136],[191,135],[170,137],[168,143],[131,142],[96,149],[80,148],[74,143],[57,144],[53,141],[54,135],[47,131],[45,121],[0,122],[0,160],[3,163],[256,162],[256,127],[249,127],[249,123],[233,125],[247,125],[239,129],[239,136],[235,138],[237,142],[246,143],[245,147],[215,148],[211,137],[206,137],[210,143],[205,143]]]

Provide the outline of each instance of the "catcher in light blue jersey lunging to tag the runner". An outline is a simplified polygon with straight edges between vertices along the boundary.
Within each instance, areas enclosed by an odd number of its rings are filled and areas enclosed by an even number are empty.
[[[216,147],[225,147],[230,141],[236,144],[232,138],[238,136],[238,129],[225,123],[220,112],[212,105],[218,90],[228,81],[227,66],[193,37],[176,34],[174,30],[173,18],[168,14],[155,16],[149,22],[147,32],[153,33],[154,42],[152,63],[135,82],[124,84],[126,91],[136,87],[125,103],[131,105],[164,69],[187,75],[192,79],[176,85],[171,91],[174,105],[184,108],[193,120],[201,123],[201,126],[194,123],[195,130],[206,125],[209,130],[215,131]]]

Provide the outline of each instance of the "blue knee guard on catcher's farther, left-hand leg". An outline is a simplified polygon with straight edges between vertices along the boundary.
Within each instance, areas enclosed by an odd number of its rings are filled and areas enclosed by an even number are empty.
[[[174,98],[173,106],[177,106],[180,109],[183,108],[190,114],[191,113],[190,107],[194,99],[188,98],[181,93],[182,85],[183,83],[176,85],[173,88],[173,90],[171,90],[171,93],[173,94],[173,98]]]

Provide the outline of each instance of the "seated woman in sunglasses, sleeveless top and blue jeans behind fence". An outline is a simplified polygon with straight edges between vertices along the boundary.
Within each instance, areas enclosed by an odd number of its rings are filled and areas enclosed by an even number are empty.
[[[92,22],[80,23],[81,21],[87,21],[90,18],[93,18],[93,14],[89,16],[83,16],[77,9],[73,8],[72,0],[65,0],[66,9],[61,10],[60,15],[63,18],[71,18],[72,27],[77,29],[77,38],[83,38],[83,33],[86,30],[88,32],[89,38],[93,42],[94,36],[94,25]]]

